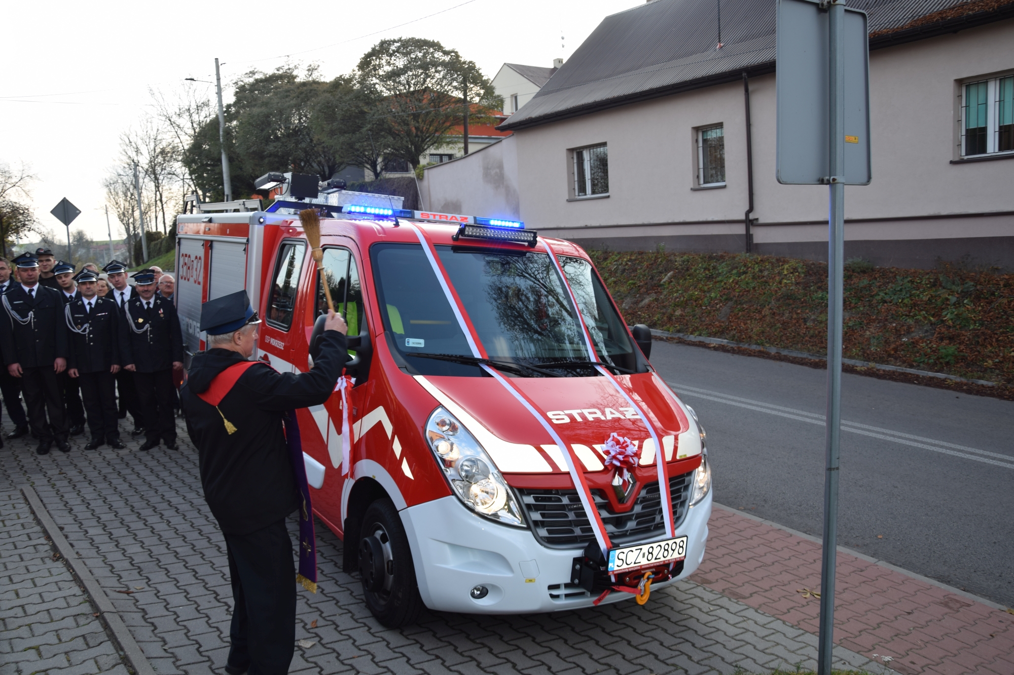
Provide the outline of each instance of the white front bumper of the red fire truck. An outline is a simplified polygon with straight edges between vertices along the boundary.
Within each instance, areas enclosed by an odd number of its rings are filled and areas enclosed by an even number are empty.
[[[402,512],[416,568],[419,593],[430,609],[484,614],[552,612],[591,606],[587,593],[564,598],[570,582],[571,562],[582,548],[547,548],[530,530],[491,522],[467,510],[456,497],[409,507]],[[690,509],[676,528],[676,536],[687,537],[686,559],[674,579],[653,584],[662,588],[685,579],[704,558],[711,516],[711,492]],[[473,599],[469,591],[485,586],[489,594]],[[557,587],[553,589],[552,587]],[[551,598],[550,594],[559,595]],[[611,593],[603,603],[633,596]]]

